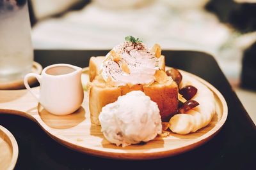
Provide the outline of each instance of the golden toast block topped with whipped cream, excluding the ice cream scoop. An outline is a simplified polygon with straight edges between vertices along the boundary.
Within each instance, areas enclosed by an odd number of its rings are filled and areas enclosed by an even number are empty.
[[[162,120],[178,108],[178,86],[164,71],[159,45],[148,48],[138,39],[117,45],[106,57],[91,57],[89,64],[91,121],[100,125],[102,107],[132,90],[141,90],[157,103]]]

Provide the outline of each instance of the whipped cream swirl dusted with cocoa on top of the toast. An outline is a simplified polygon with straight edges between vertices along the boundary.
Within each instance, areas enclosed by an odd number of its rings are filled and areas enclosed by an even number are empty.
[[[154,82],[158,67],[155,53],[143,43],[125,41],[106,55],[102,76],[115,87]]]

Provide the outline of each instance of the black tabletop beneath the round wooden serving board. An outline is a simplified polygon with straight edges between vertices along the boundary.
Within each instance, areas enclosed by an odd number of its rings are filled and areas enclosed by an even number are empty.
[[[35,50],[43,67],[56,63],[88,66],[91,56],[107,50]],[[255,169],[256,127],[230,87],[216,60],[202,52],[163,51],[166,66],[196,74],[220,90],[228,104],[228,118],[209,142],[189,152],[156,160],[113,160],[92,157],[60,145],[31,120],[0,115],[0,125],[12,132],[19,145],[15,169]]]

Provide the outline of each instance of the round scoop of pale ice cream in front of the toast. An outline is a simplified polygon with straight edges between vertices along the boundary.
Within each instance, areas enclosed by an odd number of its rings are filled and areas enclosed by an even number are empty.
[[[129,92],[104,106],[99,120],[105,138],[117,146],[147,142],[162,132],[157,104],[141,91]]]

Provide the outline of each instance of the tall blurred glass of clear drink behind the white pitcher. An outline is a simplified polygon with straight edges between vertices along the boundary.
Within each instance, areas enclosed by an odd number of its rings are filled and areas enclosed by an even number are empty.
[[[33,47],[26,0],[0,0],[0,83],[31,71]]]

